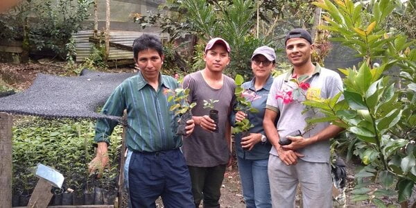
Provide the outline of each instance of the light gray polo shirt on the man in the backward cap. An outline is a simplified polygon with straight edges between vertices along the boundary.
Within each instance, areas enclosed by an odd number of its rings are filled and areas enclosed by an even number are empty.
[[[322,113],[316,112],[317,110],[315,110],[315,112],[309,110],[302,114],[305,106],[300,103],[300,101],[304,101],[304,96],[300,96],[297,101],[286,104],[281,98],[276,97],[276,95],[281,92],[291,91],[293,88],[297,87],[290,79],[291,71],[275,78],[272,87],[270,88],[266,108],[280,112],[279,121],[277,122],[277,132],[279,133],[279,137],[284,137],[295,130],[300,130],[300,132],[304,134],[304,138],[312,137],[324,130],[324,128],[327,128],[329,123],[317,123],[311,130],[304,133],[304,128],[306,127],[305,119],[322,117],[323,115]],[[315,72],[312,77],[309,78],[306,83],[311,85],[305,92],[306,96],[309,96],[309,99],[318,97],[332,98],[333,96],[336,96],[338,92],[343,90],[343,81],[338,73],[329,69],[324,69],[318,64],[316,64]],[[300,159],[306,162],[329,162],[329,139],[306,146],[305,148],[297,150],[297,152],[305,155],[304,157],[300,157]],[[279,156],[274,146],[270,150],[270,154]]]

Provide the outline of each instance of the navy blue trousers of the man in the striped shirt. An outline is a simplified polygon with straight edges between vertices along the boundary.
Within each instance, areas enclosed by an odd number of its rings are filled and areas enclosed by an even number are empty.
[[[156,207],[161,196],[164,207],[193,207],[191,178],[179,149],[156,153],[132,153],[128,167],[130,208]]]

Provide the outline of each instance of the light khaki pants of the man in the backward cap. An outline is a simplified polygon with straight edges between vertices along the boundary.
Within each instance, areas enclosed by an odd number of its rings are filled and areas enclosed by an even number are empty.
[[[302,187],[303,206],[332,207],[331,167],[328,163],[304,162],[286,166],[281,159],[270,155],[268,177],[273,207],[295,207],[297,184]]]

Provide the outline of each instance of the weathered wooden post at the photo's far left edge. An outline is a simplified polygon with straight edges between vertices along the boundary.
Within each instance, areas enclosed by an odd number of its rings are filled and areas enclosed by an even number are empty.
[[[0,207],[12,207],[12,115],[0,112]]]

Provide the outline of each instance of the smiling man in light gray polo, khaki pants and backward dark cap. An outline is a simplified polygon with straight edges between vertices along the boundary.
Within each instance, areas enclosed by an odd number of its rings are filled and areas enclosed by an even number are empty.
[[[293,70],[275,78],[263,119],[264,130],[273,145],[268,162],[272,206],[294,207],[300,182],[304,207],[332,207],[329,139],[343,128],[330,123],[306,128],[306,118],[322,114],[313,110],[304,112],[301,102],[332,98],[343,90],[343,83],[338,73],[311,62],[313,44],[307,31],[293,29],[286,35],[285,45]],[[304,76],[307,76],[305,80],[299,79]],[[300,136],[286,137],[297,130]],[[285,137],[291,144],[279,144],[279,139]]]

